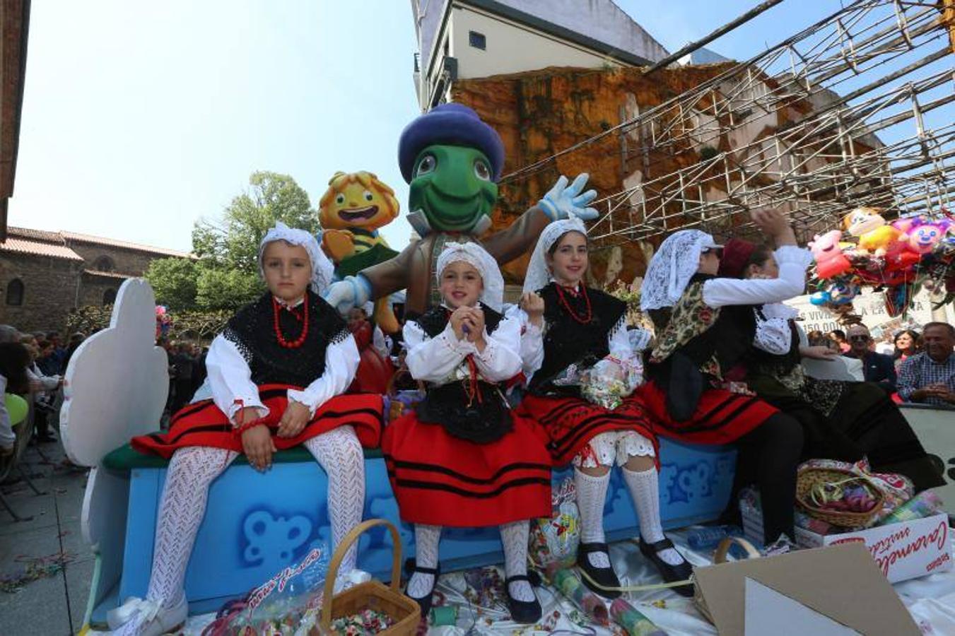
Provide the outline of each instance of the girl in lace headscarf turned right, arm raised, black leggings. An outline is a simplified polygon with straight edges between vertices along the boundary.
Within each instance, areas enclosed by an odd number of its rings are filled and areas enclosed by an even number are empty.
[[[638,392],[666,435],[701,444],[738,442],[735,488],[756,482],[769,543],[781,534],[794,539],[802,428],[732,382],[733,373],[753,344],[753,306],[802,293],[812,255],[796,245],[781,213],[758,210],[753,221],[775,240],[776,279],[718,277],[721,246],[699,230],[674,232],[653,255],[640,305],[657,341],[647,361],[650,380]]]

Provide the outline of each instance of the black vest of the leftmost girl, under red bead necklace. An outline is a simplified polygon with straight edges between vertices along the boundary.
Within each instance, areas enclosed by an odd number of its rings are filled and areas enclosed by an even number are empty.
[[[226,324],[223,337],[235,344],[252,371],[252,382],[308,387],[325,372],[329,345],[350,336],[345,320],[328,303],[308,290],[308,336],[301,347],[286,349],[275,334],[272,294],[241,308]],[[295,340],[302,333],[303,305],[279,311],[283,337]]]

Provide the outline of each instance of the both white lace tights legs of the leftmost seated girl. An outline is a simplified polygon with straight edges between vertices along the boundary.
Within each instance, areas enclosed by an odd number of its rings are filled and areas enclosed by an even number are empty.
[[[365,503],[365,464],[354,429],[342,426],[305,442],[329,476],[331,538],[337,545],[362,518]],[[181,448],[169,463],[153,550],[153,569],[147,599],[169,607],[183,594],[185,567],[205,514],[209,484],[219,477],[238,453],[219,448]],[[334,547],[334,546],[332,546]],[[341,571],[355,565],[355,547]],[[130,632],[135,633],[135,632]]]

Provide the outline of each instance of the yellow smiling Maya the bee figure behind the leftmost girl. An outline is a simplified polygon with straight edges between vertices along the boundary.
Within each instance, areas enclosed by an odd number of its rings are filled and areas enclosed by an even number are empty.
[[[371,172],[336,172],[331,177],[329,189],[318,203],[318,219],[322,248],[334,262],[338,278],[353,276],[397,255],[378,228],[392,223],[398,209],[392,188]],[[387,296],[375,303],[372,317],[382,330],[398,330]]]

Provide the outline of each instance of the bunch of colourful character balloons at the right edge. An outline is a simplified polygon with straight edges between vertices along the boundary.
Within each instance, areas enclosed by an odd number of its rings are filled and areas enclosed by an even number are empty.
[[[955,217],[905,217],[886,223],[879,210],[859,207],[845,215],[841,230],[817,234],[809,248],[816,258],[819,290],[813,305],[838,313],[863,286],[882,290],[890,316],[901,315],[921,286],[939,289],[942,305],[955,300]],[[843,243],[843,231],[858,243]]]

